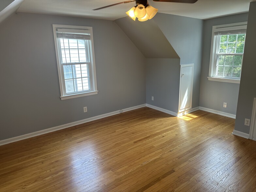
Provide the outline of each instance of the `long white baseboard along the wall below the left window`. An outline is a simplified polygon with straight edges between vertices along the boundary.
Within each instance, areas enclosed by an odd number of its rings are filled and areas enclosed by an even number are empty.
[[[134,110],[134,109],[139,109],[139,108],[142,108],[142,107],[145,107],[145,106],[146,106],[146,104],[141,104],[141,105],[137,105],[137,106],[134,106],[134,107],[129,107],[129,108],[126,108],[126,109],[122,109],[122,113],[126,112],[126,111],[131,111],[131,110]],[[20,141],[20,140],[23,140],[23,139],[27,139],[27,138],[30,138],[30,137],[39,136],[39,135],[54,132],[54,131],[57,131],[57,130],[65,129],[65,128],[72,127],[72,126],[75,126],[75,125],[79,125],[79,124],[82,124],[82,123],[87,123],[89,121],[102,119],[102,118],[109,117],[109,116],[112,116],[112,115],[117,115],[119,113],[120,113],[119,110],[118,111],[113,111],[113,112],[110,112],[110,113],[106,113],[106,114],[103,114],[103,115],[98,115],[98,116],[87,118],[87,119],[84,119],[84,120],[79,120],[79,121],[67,123],[67,124],[64,124],[64,125],[59,125],[59,126],[56,126],[56,127],[52,127],[52,128],[32,132],[32,133],[28,133],[28,134],[25,134],[25,135],[0,140],[0,146],[8,144],[8,143],[15,142],[15,141]]]

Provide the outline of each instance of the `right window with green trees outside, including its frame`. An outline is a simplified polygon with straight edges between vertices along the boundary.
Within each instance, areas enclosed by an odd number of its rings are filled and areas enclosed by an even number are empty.
[[[247,22],[213,26],[209,80],[240,83]]]

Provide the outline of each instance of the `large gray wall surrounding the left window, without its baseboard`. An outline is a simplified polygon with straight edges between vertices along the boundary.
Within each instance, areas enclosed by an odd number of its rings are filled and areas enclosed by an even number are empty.
[[[97,95],[60,100],[52,24],[93,27]],[[13,14],[0,42],[0,140],[146,103],[146,59],[113,21]]]

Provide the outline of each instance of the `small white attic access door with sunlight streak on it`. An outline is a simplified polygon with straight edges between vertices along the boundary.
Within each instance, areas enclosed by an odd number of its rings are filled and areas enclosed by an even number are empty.
[[[179,113],[192,108],[194,64],[181,65]]]

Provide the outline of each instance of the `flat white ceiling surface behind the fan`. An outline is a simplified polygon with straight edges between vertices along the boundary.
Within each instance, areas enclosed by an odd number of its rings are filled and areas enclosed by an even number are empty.
[[[135,6],[135,2],[95,11],[92,9],[122,1],[123,0],[24,0],[18,11],[116,20],[127,16],[125,12]],[[149,1],[149,4],[158,8],[158,12],[160,13],[209,19],[248,12],[249,3],[252,1],[255,0],[198,0],[194,4]]]

